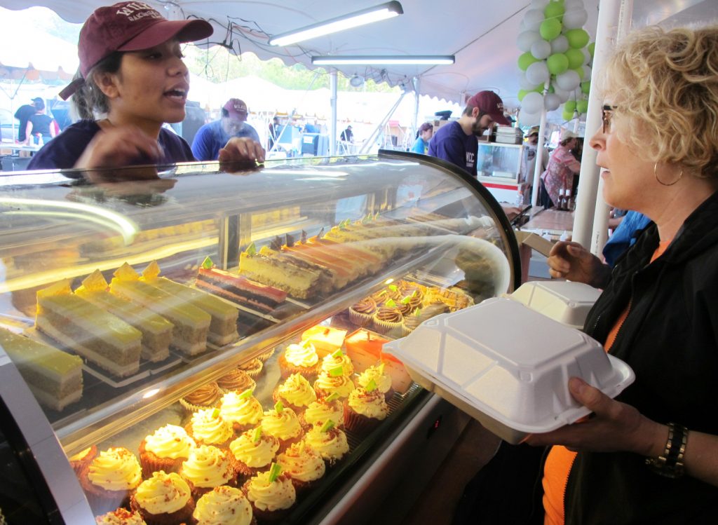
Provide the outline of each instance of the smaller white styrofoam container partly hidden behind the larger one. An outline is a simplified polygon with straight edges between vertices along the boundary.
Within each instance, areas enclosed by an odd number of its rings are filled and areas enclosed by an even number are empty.
[[[600,289],[582,282],[532,281],[521,284],[509,297],[564,325],[581,329],[600,294]]]

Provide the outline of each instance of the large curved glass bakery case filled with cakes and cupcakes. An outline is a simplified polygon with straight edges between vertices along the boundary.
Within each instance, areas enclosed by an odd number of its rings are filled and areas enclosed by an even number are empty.
[[[0,176],[0,216],[0,450],[34,463],[26,470],[47,486],[13,500],[22,481],[5,475],[7,523],[22,522],[11,518],[22,506],[74,524],[127,505],[159,470],[148,442],[169,429],[192,453],[231,455],[234,477],[218,484],[245,489],[281,470],[286,450],[346,440],[284,513],[322,521],[383,451],[400,456],[402,432],[421,435],[417,414],[437,409],[381,344],[520,284],[495,200],[423,155],[14,172]],[[376,412],[363,415],[362,399]],[[238,415],[251,403],[256,417]],[[279,449],[236,467],[232,443],[265,435]],[[116,449],[141,468],[119,496],[93,486]],[[159,464],[194,479],[178,454]],[[201,485],[193,501],[212,488]]]

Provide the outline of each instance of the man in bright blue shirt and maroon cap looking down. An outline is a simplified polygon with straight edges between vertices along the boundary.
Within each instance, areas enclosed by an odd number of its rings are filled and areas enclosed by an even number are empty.
[[[218,121],[205,124],[192,141],[192,154],[197,160],[217,160],[220,149],[233,136],[248,137],[258,142],[256,130],[247,124],[247,105],[238,98],[230,98],[222,108],[222,117]]]

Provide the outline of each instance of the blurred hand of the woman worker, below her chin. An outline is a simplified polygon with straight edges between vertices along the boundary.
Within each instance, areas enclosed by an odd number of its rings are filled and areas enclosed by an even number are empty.
[[[162,148],[137,126],[103,127],[85,147],[76,168],[104,168],[126,166],[136,159],[146,158],[147,164],[162,157]]]

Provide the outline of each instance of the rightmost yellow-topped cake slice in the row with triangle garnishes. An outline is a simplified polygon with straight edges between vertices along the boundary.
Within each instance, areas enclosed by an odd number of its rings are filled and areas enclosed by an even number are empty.
[[[212,317],[208,333],[210,343],[223,346],[238,340],[237,317],[239,310],[233,305],[212,294],[202,292],[202,290],[159,277],[157,261],[152,261],[142,271],[142,277],[139,280],[207,312]]]

